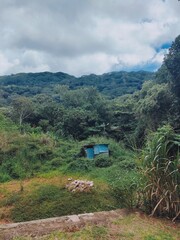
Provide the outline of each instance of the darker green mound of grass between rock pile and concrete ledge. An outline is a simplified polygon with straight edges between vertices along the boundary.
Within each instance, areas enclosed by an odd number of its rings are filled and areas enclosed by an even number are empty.
[[[69,214],[111,210],[113,199],[109,195],[108,192],[96,189],[91,193],[71,193],[64,187],[40,186],[26,196],[20,193],[15,200],[13,199],[14,208],[11,218],[15,222],[21,222]],[[7,199],[7,203],[10,202],[10,205],[12,205],[12,200],[10,200],[11,198]],[[118,208],[121,206],[114,201],[113,207]]]

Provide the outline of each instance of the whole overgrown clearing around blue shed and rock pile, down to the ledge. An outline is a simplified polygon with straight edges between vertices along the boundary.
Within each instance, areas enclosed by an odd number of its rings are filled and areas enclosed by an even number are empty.
[[[109,143],[111,166],[98,167],[95,161],[79,157],[85,141],[25,134],[19,135],[15,144],[9,137],[7,149],[2,149],[1,168],[3,174],[8,173],[11,179],[17,180],[0,184],[0,221],[27,221],[132,207],[132,191],[138,179],[134,154],[112,139],[87,141]],[[16,159],[12,161],[10,152],[14,147]],[[68,178],[92,180],[94,189],[91,193],[68,192],[65,189]]]

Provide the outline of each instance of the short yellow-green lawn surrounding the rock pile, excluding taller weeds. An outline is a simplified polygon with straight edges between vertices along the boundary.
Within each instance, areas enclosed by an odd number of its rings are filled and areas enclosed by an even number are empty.
[[[28,221],[120,207],[105,182],[94,181],[95,187],[90,193],[71,193],[65,189],[69,177],[77,179],[76,174],[63,175],[55,171],[23,182],[11,181],[2,184],[1,220]]]

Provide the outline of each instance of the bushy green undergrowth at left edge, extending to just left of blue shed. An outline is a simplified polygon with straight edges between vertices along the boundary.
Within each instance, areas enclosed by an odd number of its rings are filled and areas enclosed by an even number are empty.
[[[59,146],[52,137],[42,133],[0,132],[0,139],[1,182],[32,177],[37,172],[61,167],[69,156],[69,146],[73,148],[73,144],[65,142],[64,146]],[[70,157],[73,158],[71,153]]]

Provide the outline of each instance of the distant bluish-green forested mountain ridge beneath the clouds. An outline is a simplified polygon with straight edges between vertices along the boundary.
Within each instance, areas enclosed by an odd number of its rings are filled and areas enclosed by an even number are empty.
[[[51,94],[56,85],[68,85],[70,89],[94,86],[109,98],[115,98],[141,89],[144,81],[154,79],[152,72],[110,72],[102,75],[74,77],[63,72],[19,73],[0,77],[0,97],[10,95],[33,96]]]

